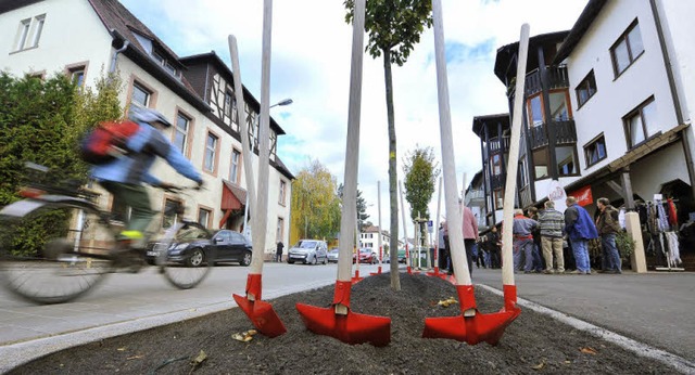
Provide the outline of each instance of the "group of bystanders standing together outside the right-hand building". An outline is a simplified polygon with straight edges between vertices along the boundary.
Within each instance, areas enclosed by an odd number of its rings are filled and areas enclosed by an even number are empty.
[[[528,216],[521,209],[515,210],[511,230],[515,271],[565,273],[564,238],[567,238],[577,266],[569,273],[591,274],[589,242],[601,237],[603,261],[599,272],[622,273],[620,254],[616,247],[616,235],[622,231],[619,211],[608,198],[599,198],[596,203],[599,214],[594,221],[576,197],[567,197],[566,203],[565,214],[555,209],[553,201],[545,202],[542,211],[529,209]],[[539,248],[543,251],[543,258]]]

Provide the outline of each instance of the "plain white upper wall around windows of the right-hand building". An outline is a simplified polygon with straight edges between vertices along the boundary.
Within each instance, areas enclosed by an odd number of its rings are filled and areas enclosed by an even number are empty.
[[[644,53],[618,78],[615,77],[610,47],[637,18]],[[577,124],[577,148],[582,174],[591,173],[628,152],[622,117],[654,95],[658,121],[656,130],[678,126],[664,65],[661,48],[647,0],[608,1],[582,40],[567,59],[570,98]],[[574,88],[594,70],[597,92],[578,108]],[[599,133],[606,139],[607,158],[586,168],[583,146]]]

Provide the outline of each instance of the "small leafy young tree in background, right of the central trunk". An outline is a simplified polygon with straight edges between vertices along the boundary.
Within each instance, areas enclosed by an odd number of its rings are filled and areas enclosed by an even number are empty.
[[[418,215],[421,219],[429,219],[428,204],[432,199],[434,182],[440,173],[438,163],[434,161],[432,147],[416,145],[415,150],[405,156],[403,171],[405,172],[405,199],[410,205],[412,219],[415,220]],[[420,238],[425,238],[425,225],[421,225],[419,230]]]

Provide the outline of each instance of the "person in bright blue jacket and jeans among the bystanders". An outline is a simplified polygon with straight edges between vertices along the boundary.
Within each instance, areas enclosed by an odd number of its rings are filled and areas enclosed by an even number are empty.
[[[589,216],[584,207],[577,204],[577,198],[568,196],[565,199],[567,209],[565,210],[565,232],[569,237],[577,270],[573,274],[591,274],[591,263],[589,261],[589,240],[598,238],[598,232],[594,221]]]

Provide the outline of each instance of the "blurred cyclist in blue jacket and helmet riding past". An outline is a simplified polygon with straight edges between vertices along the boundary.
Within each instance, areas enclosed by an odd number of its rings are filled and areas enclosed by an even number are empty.
[[[132,107],[128,117],[140,129],[126,141],[127,154],[113,161],[92,166],[91,174],[114,198],[130,206],[130,220],[126,222],[121,236],[122,240],[138,241],[144,237],[143,232],[154,217],[150,196],[142,182],[164,189],[173,186],[149,172],[156,156],[164,158],[180,174],[198,182],[199,186],[202,186],[203,179],[162,133],[163,129],[172,126],[164,115],[150,108]]]

